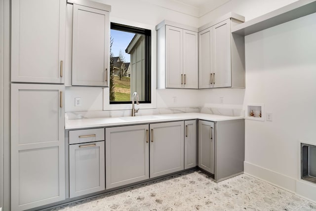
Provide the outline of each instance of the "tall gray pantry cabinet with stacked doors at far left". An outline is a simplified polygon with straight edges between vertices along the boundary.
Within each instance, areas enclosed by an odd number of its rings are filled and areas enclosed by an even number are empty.
[[[11,210],[22,211],[65,199],[66,0],[11,3]]]

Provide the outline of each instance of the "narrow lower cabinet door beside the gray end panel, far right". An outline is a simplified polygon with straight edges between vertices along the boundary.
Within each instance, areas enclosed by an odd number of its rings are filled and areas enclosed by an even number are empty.
[[[214,123],[198,121],[198,167],[214,174]]]

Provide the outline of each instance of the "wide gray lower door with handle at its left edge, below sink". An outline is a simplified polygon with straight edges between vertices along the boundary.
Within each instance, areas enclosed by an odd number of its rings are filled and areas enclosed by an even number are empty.
[[[150,125],[150,177],[184,169],[184,122]]]

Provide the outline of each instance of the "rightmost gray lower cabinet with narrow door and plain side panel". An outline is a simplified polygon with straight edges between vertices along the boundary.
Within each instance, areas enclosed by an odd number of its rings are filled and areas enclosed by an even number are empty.
[[[243,172],[244,120],[199,121],[198,167],[221,181]]]

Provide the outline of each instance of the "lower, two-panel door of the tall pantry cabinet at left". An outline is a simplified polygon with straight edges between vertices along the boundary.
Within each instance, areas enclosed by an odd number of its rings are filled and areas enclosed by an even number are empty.
[[[11,210],[65,199],[63,85],[11,84]]]

